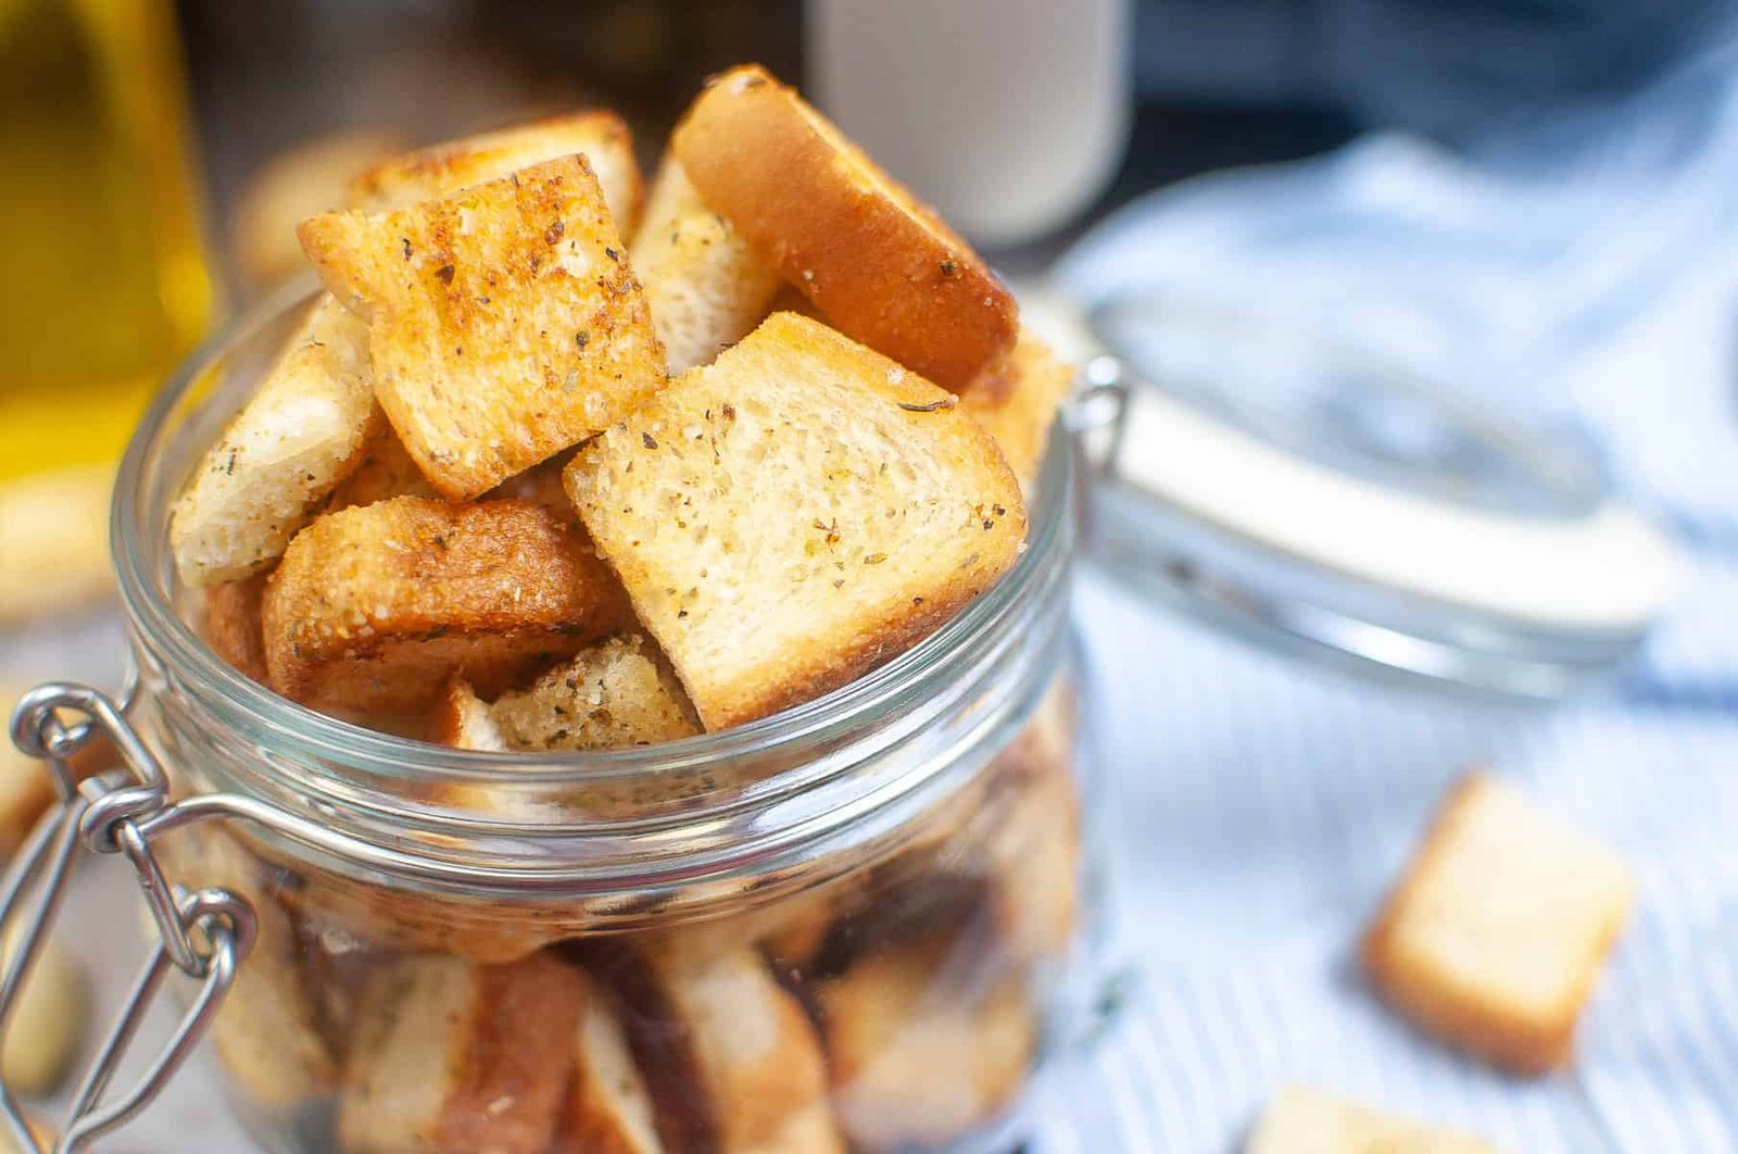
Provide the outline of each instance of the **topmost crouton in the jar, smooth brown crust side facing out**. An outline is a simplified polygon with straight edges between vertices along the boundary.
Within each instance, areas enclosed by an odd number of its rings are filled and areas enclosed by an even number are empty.
[[[989,266],[765,70],[716,76],[671,139],[706,203],[839,332],[949,389],[1013,346]]]

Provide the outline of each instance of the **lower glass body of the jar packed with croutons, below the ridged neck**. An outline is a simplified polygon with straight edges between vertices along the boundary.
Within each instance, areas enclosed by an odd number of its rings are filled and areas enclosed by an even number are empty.
[[[216,826],[165,839],[259,942],[209,1050],[282,1151],[952,1151],[1017,1126],[1083,970],[1060,685],[848,860],[657,900],[365,885]]]

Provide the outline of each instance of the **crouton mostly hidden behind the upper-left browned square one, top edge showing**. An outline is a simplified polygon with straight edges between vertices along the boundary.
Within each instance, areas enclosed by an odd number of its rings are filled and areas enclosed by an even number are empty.
[[[574,153],[580,153],[596,174],[615,229],[633,236],[645,191],[640,162],[627,125],[601,109],[547,116],[393,156],[351,181],[349,207],[389,212]]]

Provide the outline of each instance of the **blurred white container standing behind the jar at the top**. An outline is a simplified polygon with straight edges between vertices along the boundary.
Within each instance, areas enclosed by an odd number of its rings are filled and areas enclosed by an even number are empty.
[[[808,87],[985,245],[1062,228],[1128,139],[1130,0],[810,0]]]

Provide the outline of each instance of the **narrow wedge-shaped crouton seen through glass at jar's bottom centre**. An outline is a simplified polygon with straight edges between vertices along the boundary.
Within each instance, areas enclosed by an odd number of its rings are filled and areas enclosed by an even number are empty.
[[[580,975],[574,1083],[554,1149],[587,1154],[660,1154],[657,1111],[608,991]]]

